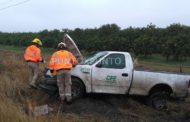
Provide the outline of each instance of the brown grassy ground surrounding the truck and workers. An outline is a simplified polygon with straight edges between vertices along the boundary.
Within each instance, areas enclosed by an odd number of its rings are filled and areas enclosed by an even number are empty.
[[[14,47],[7,47],[9,50]],[[2,48],[1,48],[2,49]],[[46,60],[48,53],[43,54]],[[54,96],[28,86],[29,71],[22,59],[22,50],[0,51],[0,121],[1,122],[189,122],[190,98],[170,100],[169,109],[154,110],[144,104],[143,98],[122,95],[88,94],[71,105],[61,103]],[[160,59],[160,58],[159,58]],[[147,61],[148,60],[148,61]],[[137,61],[137,68],[151,70],[179,71],[179,62],[171,64],[156,62],[154,59]],[[157,67],[155,64],[158,64]],[[189,73],[189,60],[183,62],[183,70]],[[174,68],[176,66],[176,68]],[[40,68],[43,72],[44,65]],[[53,112],[35,117],[30,114],[29,106],[48,104]]]

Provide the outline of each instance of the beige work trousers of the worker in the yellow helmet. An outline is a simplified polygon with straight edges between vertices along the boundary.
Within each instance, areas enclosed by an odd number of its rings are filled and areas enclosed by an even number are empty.
[[[35,62],[28,62],[28,66],[31,70],[29,76],[30,84],[35,84],[39,76],[39,71],[40,71],[39,64]]]

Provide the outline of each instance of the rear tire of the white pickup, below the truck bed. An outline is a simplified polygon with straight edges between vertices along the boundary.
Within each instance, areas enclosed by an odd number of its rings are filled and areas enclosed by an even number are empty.
[[[167,109],[167,99],[169,97],[169,93],[166,91],[157,91],[151,93],[147,98],[147,105],[157,109],[164,110]]]

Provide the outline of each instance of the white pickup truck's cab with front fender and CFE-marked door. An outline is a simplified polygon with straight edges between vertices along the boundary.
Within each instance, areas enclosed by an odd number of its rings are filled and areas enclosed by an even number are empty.
[[[127,94],[133,79],[129,53],[99,52],[72,70],[80,78],[87,93]]]

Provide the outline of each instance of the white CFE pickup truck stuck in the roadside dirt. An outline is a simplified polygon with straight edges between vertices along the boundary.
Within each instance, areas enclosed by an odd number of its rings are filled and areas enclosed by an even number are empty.
[[[147,97],[150,106],[163,109],[167,97],[188,96],[190,75],[137,71],[128,52],[103,51],[73,68],[72,83],[73,98],[84,93],[140,95]]]

